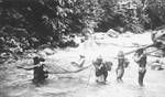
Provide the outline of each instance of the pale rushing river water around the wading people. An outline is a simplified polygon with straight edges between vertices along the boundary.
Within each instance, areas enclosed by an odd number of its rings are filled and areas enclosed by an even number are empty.
[[[131,45],[133,42],[150,44],[151,40],[146,40],[144,43],[140,37],[148,39],[146,34],[110,39],[110,42],[124,46]],[[132,61],[132,55],[127,56],[131,63],[125,69],[123,83],[116,82],[117,61],[112,56],[116,56],[120,50],[128,52],[132,47],[103,43],[97,45],[94,41],[90,41],[81,44],[78,48],[61,51],[48,56],[51,60],[64,60],[61,62],[67,62],[77,58],[77,54],[85,54],[87,58],[86,65],[89,65],[91,60],[101,54],[105,60],[113,62],[112,71],[109,72],[106,85],[95,83],[95,71],[94,67],[90,67],[76,74],[51,74],[44,85],[35,86],[31,82],[33,78],[32,71],[15,67],[20,62],[2,64],[0,69],[0,97],[165,97],[165,71],[151,71],[148,66],[144,78],[145,86],[140,87],[138,85],[138,65]]]

